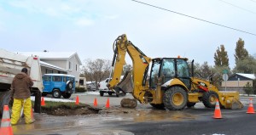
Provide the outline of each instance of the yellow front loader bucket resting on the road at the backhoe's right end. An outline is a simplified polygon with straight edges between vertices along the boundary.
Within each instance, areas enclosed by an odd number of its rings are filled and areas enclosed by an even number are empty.
[[[239,101],[238,92],[219,92],[220,104],[224,106],[225,109],[238,110],[243,108],[243,104]]]

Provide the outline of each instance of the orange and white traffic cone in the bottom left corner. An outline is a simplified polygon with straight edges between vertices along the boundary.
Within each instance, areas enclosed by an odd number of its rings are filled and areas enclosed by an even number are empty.
[[[13,135],[13,134],[14,134],[13,128],[11,127],[10,117],[9,117],[9,107],[8,105],[4,105],[0,135]]]

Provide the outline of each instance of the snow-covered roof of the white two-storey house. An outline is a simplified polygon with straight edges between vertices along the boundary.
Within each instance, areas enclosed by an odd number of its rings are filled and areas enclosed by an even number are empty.
[[[79,58],[79,54],[76,52],[17,52],[26,56],[38,55],[40,59],[70,59],[75,56],[79,61],[79,65],[82,65],[82,62]]]

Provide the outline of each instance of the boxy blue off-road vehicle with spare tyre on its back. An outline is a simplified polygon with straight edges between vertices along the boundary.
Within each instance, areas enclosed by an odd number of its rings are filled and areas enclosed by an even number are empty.
[[[52,94],[54,98],[70,98],[75,91],[75,77],[66,74],[44,74],[42,95]]]

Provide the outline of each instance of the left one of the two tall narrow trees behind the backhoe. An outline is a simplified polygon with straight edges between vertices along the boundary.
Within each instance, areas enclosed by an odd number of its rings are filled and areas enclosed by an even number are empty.
[[[229,57],[227,51],[225,51],[224,45],[220,45],[220,48],[214,53],[215,66],[229,66]]]

